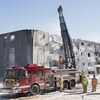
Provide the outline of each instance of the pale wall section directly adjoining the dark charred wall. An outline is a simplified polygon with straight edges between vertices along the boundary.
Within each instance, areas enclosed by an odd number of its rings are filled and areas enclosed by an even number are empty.
[[[49,68],[49,33],[33,30],[33,63]]]

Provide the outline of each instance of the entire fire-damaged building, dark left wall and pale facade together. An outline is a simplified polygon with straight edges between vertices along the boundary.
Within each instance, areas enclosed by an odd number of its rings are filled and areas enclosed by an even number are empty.
[[[100,74],[100,44],[73,39],[76,68],[86,74]],[[39,30],[20,30],[0,35],[0,76],[6,68],[43,65],[58,68],[59,55],[64,56],[61,36]]]

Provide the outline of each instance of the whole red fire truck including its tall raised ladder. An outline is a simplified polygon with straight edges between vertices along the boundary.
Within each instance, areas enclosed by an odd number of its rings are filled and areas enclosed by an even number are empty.
[[[28,64],[27,66],[16,66],[8,68],[3,80],[3,92],[25,93],[32,95],[39,94],[41,91],[59,88],[59,80],[63,83],[63,89],[72,89],[77,82],[78,71],[75,65],[75,55],[71,38],[62,13],[62,7],[58,8],[61,36],[64,48],[64,61],[60,59],[58,69],[45,69],[45,66]],[[63,64],[62,64],[63,63]]]

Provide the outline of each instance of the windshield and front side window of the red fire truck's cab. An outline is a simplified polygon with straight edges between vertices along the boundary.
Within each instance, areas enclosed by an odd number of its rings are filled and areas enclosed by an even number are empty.
[[[21,78],[22,70],[7,70],[5,78]]]

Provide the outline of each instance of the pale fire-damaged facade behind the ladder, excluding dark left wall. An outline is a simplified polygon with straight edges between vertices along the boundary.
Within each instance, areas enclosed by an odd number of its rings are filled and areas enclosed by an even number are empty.
[[[76,68],[86,74],[100,74],[100,44],[73,39]],[[61,36],[35,32],[33,62],[46,68],[58,68],[59,56],[64,56]]]

